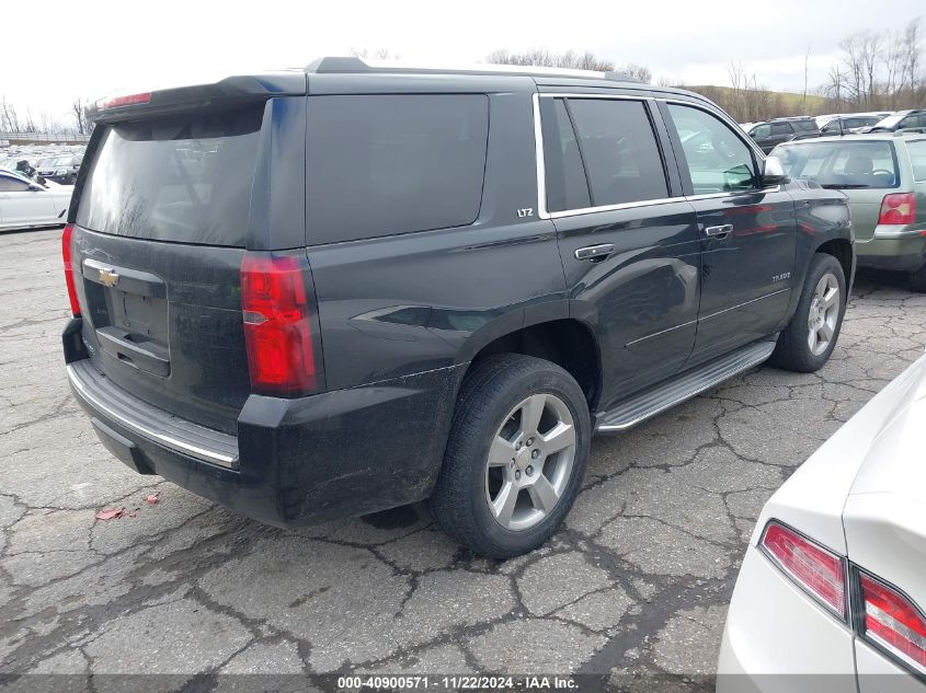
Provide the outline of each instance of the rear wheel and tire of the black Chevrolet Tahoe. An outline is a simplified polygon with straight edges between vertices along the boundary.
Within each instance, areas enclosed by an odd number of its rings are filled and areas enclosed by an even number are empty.
[[[431,497],[435,521],[491,558],[536,548],[579,495],[591,437],[585,395],[559,366],[517,354],[475,363]]]

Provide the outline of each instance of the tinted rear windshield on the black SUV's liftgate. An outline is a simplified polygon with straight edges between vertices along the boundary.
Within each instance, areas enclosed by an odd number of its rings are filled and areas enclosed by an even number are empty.
[[[108,126],[77,222],[93,231],[243,246],[263,107]]]

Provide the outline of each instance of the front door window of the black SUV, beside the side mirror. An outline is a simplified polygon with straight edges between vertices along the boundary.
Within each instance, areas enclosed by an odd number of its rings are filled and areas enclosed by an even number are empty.
[[[691,106],[668,104],[682,139],[695,195],[754,189],[752,150],[720,118]]]

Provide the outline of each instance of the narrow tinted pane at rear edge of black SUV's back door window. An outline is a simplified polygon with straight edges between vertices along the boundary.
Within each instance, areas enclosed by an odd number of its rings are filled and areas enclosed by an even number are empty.
[[[579,141],[561,99],[541,100],[544,161],[547,174],[547,209],[582,209],[592,206]]]

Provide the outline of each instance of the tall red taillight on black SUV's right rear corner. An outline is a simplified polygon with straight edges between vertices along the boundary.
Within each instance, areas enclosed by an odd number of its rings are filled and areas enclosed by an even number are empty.
[[[297,395],[317,389],[308,265],[293,255],[245,253],[241,309],[251,386]]]

